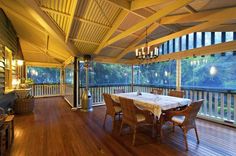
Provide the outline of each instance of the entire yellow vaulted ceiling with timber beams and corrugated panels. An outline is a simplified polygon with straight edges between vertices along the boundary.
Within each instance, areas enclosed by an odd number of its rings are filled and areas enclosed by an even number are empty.
[[[0,0],[27,61],[91,54],[127,63],[142,46],[195,31],[235,31],[235,0]]]

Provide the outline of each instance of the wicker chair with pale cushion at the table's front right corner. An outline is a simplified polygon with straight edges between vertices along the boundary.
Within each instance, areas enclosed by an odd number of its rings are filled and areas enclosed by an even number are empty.
[[[199,100],[196,102],[192,102],[184,110],[169,111],[166,113],[165,120],[171,121],[173,123],[173,131],[175,130],[174,129],[175,126],[179,126],[183,130],[186,150],[188,150],[187,132],[191,129],[195,130],[197,143],[199,144],[199,137],[197,133],[195,119],[197,117],[197,113],[199,112],[202,104],[203,104],[203,100]]]

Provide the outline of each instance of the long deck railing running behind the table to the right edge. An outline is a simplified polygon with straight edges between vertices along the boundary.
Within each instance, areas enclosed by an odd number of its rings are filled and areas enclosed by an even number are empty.
[[[141,91],[151,92],[153,88],[163,89],[164,95],[170,90],[175,90],[175,86],[154,86],[154,85],[131,85],[114,84],[90,86],[90,92],[93,97],[94,105],[100,105],[103,102],[102,93],[114,93],[114,89],[123,88],[126,92]],[[219,88],[182,88],[185,92],[185,98],[193,101],[204,99],[204,104],[200,110],[199,116],[207,119],[219,120],[236,125],[236,92],[233,90],[223,90]],[[83,87],[80,88],[82,93]]]

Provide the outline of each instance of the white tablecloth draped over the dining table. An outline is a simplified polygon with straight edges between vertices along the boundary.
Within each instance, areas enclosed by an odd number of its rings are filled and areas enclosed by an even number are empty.
[[[168,110],[179,106],[189,105],[192,101],[186,98],[177,98],[165,95],[154,95],[143,93],[137,95],[137,92],[112,94],[112,99],[119,102],[119,97],[134,100],[134,104],[146,110],[151,111],[154,115],[160,117],[162,110]]]

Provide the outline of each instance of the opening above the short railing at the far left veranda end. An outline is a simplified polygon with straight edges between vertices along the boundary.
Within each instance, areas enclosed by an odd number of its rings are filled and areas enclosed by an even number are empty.
[[[27,78],[35,84],[60,83],[60,68],[28,66]]]

